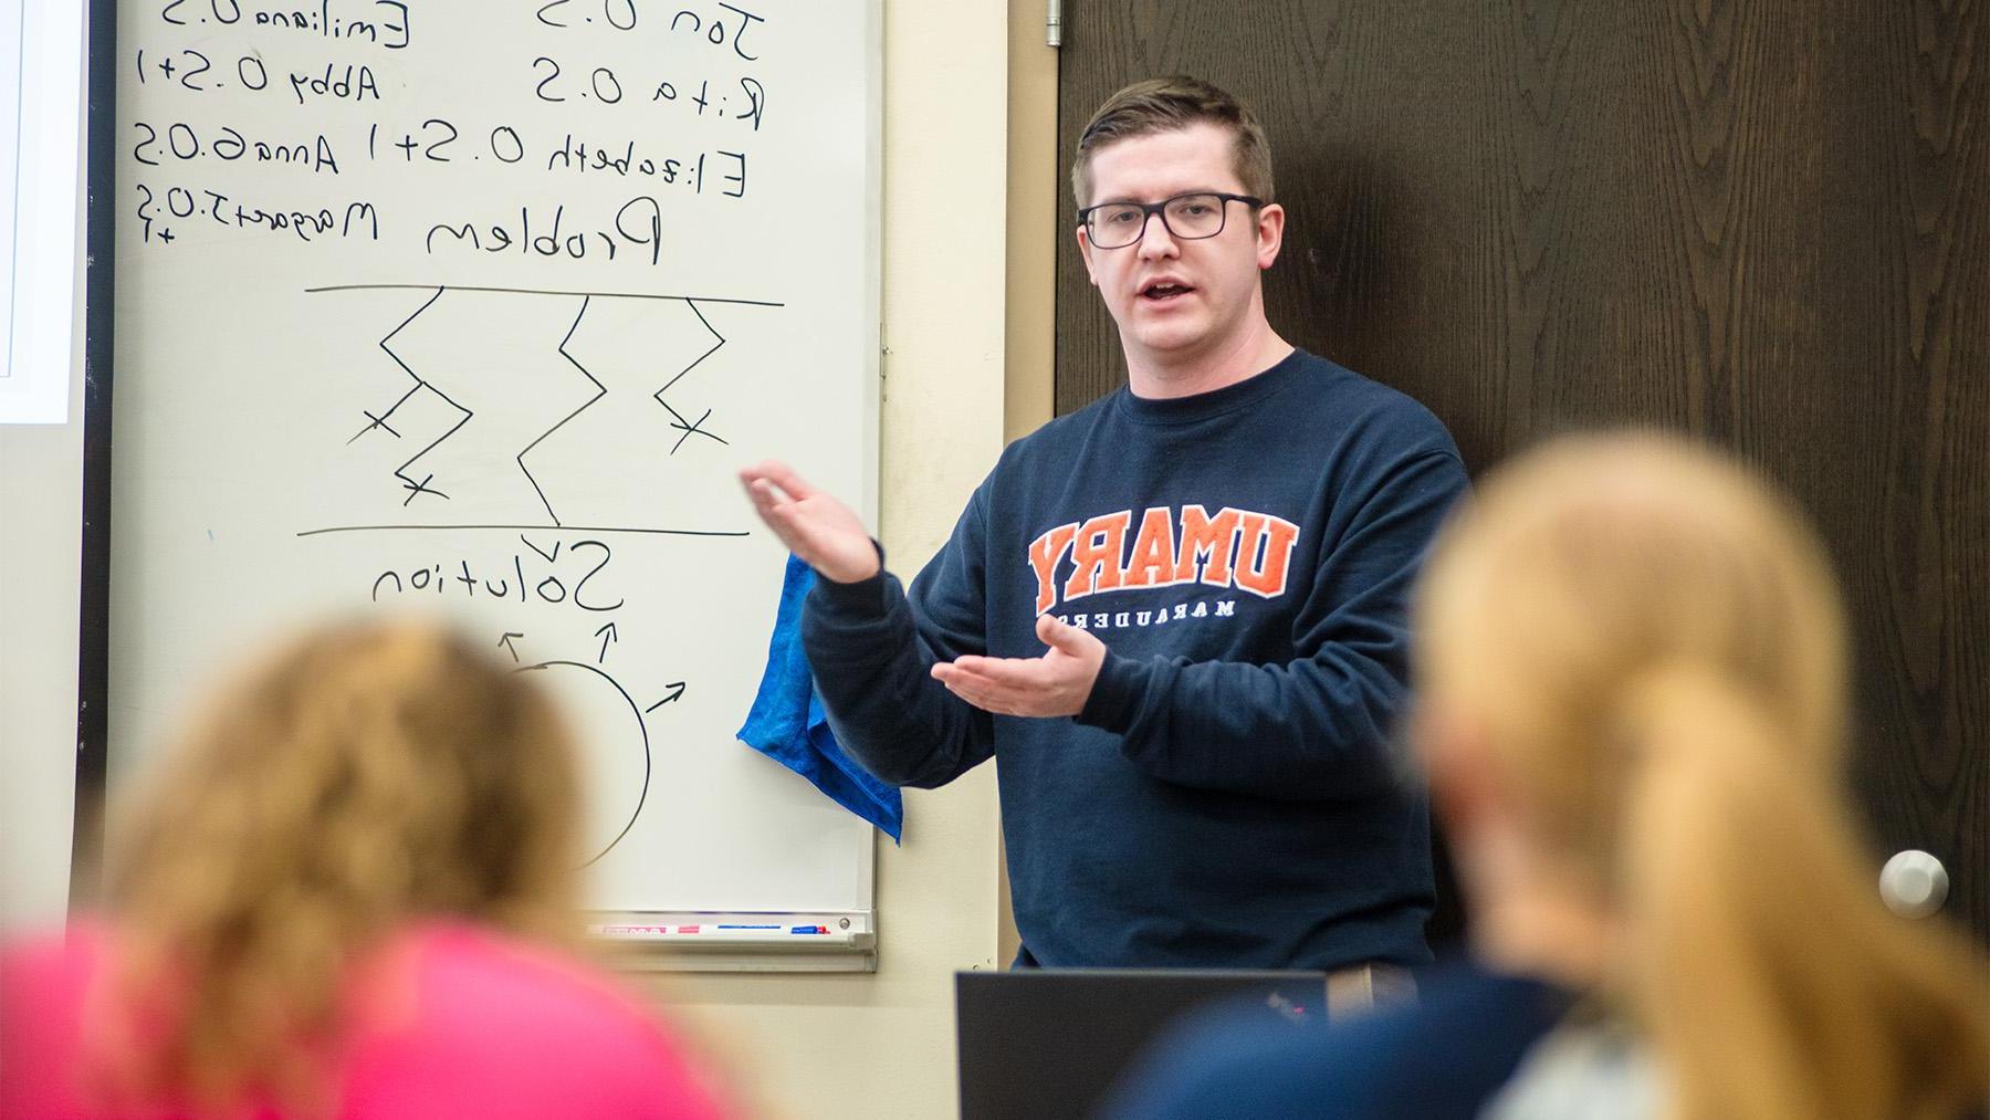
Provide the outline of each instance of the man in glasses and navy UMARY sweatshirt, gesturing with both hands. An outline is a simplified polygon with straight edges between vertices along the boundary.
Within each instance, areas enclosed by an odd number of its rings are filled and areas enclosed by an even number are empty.
[[[1001,760],[1019,965],[1421,963],[1429,830],[1387,742],[1457,448],[1266,322],[1286,213],[1228,93],[1114,93],[1073,187],[1128,384],[1009,446],[909,597],[848,507],[740,475],[822,577],[830,726],[905,786]]]

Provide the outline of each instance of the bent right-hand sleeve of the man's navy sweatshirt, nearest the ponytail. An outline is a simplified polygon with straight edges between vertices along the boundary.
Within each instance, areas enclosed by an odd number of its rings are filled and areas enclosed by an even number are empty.
[[[1180,786],[1337,800],[1393,782],[1389,736],[1409,694],[1409,595],[1465,489],[1465,464],[1451,452],[1383,475],[1321,555],[1294,623],[1294,660],[1106,653],[1077,720],[1118,734],[1128,760]]]

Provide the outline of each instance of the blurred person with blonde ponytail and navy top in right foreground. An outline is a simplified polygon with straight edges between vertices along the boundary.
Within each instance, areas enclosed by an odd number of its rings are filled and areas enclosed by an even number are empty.
[[[1845,802],[1825,553],[1660,436],[1498,469],[1417,601],[1473,963],[1321,1030],[1210,1021],[1116,1116],[1980,1116],[1990,975],[1889,913]]]

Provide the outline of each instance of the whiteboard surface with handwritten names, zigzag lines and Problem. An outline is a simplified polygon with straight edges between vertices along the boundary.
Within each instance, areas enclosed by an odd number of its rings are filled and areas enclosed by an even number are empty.
[[[432,611],[581,724],[595,909],[870,931],[872,828],[734,738],[786,557],[734,471],[876,515],[876,0],[145,0],[115,54],[113,786],[273,633]]]

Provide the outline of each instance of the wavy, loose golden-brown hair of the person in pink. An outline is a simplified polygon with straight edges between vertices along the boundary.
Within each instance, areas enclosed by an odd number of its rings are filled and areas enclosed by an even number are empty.
[[[320,1110],[346,971],[398,927],[571,943],[575,766],[533,674],[430,625],[334,625],[245,674],[125,822],[107,1092]]]

